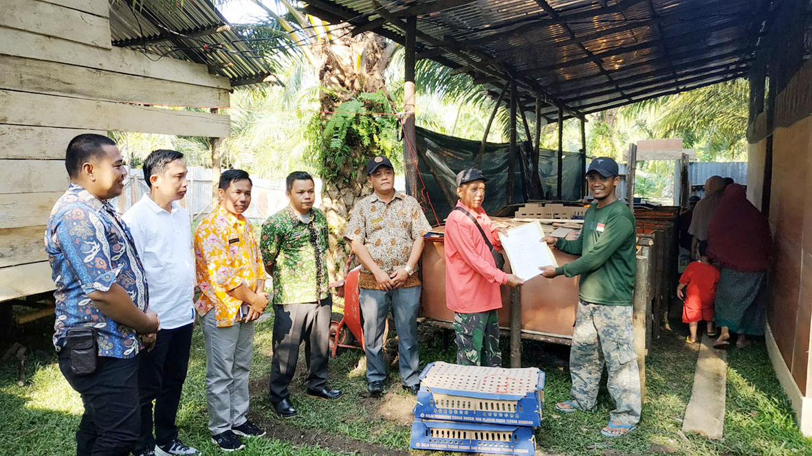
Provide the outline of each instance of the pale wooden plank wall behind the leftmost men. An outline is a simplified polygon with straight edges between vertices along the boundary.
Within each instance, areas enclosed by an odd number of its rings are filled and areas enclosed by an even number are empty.
[[[231,84],[205,65],[110,42],[108,0],[6,0],[0,15],[0,302],[54,289],[45,222],[67,187],[68,141],[133,131],[229,136]],[[149,106],[147,106],[149,105]],[[165,106],[165,107],[156,107]]]

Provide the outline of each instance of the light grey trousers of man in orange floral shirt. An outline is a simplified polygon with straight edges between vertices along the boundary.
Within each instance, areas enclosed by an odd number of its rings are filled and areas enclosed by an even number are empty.
[[[248,419],[248,369],[253,358],[253,321],[218,328],[214,309],[203,316],[205,393],[213,436]]]

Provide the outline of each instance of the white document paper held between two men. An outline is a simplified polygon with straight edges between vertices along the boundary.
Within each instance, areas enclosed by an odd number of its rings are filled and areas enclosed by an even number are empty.
[[[508,254],[511,269],[522,280],[538,276],[541,266],[558,266],[555,256],[547,243],[542,243],[544,230],[539,222],[525,223],[508,230],[508,235],[499,234],[504,252]]]

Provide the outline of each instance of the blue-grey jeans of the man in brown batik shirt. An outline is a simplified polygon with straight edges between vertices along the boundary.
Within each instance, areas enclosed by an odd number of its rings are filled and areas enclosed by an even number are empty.
[[[420,358],[417,355],[417,309],[420,307],[421,286],[395,290],[361,288],[358,298],[364,316],[364,351],[366,352],[366,381],[383,381],[387,367],[383,362],[383,329],[389,308],[395,315],[400,353],[400,383],[404,386],[420,383]]]

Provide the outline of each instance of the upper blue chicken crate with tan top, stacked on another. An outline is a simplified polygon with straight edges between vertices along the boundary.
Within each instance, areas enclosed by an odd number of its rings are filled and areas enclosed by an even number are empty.
[[[544,372],[436,362],[420,374],[414,416],[482,424],[539,426]]]

